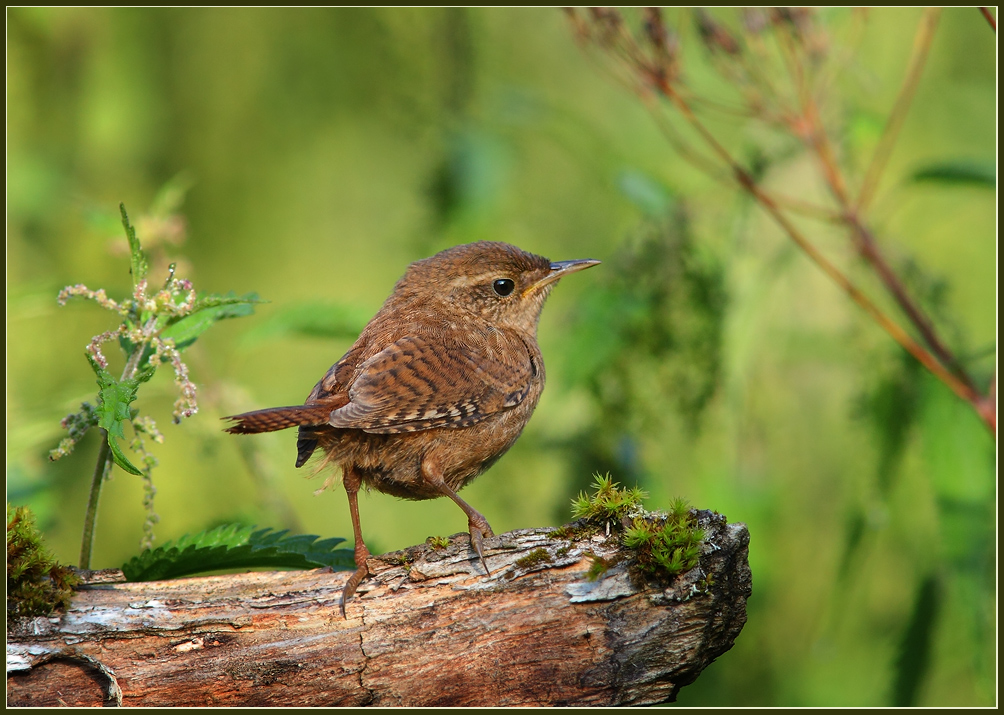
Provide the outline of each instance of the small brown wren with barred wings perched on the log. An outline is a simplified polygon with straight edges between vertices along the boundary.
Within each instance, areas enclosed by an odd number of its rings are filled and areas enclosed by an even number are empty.
[[[537,323],[554,283],[599,261],[551,261],[480,241],[416,261],[358,339],[296,407],[225,419],[233,434],[299,428],[296,466],[318,447],[341,467],[355,538],[345,602],[366,576],[360,485],[448,496],[467,514],[485,570],[488,521],[457,492],[512,447],[544,389]]]

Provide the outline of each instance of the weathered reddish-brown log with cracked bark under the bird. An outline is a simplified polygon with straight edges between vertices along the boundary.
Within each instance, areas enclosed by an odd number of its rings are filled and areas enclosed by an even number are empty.
[[[700,565],[668,587],[616,534],[569,527],[486,539],[490,576],[467,534],[373,557],[347,620],[347,575],[326,569],[91,582],[8,633],[7,704],[672,701],[732,647],[751,592],[746,526],[698,515]],[[613,565],[589,580],[597,558]]]

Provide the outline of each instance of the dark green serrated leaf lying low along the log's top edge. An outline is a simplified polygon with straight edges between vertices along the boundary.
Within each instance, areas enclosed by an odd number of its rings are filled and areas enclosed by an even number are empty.
[[[147,549],[122,564],[122,572],[129,580],[146,581],[223,568],[355,568],[353,550],[335,548],[345,539],[317,540],[313,534],[286,536],[286,533],[285,529],[272,531],[267,527],[224,524]]]

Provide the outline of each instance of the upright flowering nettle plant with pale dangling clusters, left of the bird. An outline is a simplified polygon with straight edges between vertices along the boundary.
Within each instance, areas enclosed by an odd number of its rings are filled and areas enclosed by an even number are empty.
[[[141,546],[149,548],[154,540],[154,524],[159,519],[154,511],[157,489],[152,475],[158,461],[147,443],[148,440],[163,443],[164,436],[153,418],[141,415],[133,406],[140,386],[149,382],[159,367],[170,365],[179,393],[174,421],[178,424],[195,415],[199,411],[197,389],[189,377],[188,366],[182,361],[182,352],[217,320],[249,315],[254,311],[254,304],[260,302],[254,293],[242,296],[197,294],[191,281],[175,276],[175,264],[169,268],[163,285],[152,286],[148,281],[150,265],[136,229],[130,223],[126,207],[120,205],[119,210],[129,241],[132,294],[123,300],[113,300],[103,289],[91,290],[82,284],[59,291],[60,305],[65,305],[71,297],[82,297],[121,318],[117,327],[94,335],[85,348],[87,363],[97,378],[96,403],[83,403],[78,412],[62,420],[61,425],[68,435],[49,452],[49,459],[61,459],[73,451],[88,430],[98,428],[101,431],[101,446],[84,518],[80,568],[90,565],[98,497],[112,464],[144,480],[147,519]],[[108,372],[108,359],[103,351],[111,342],[117,342],[126,358],[126,367],[117,378]],[[138,456],[140,466],[127,456],[120,444],[127,439],[127,424],[132,433],[128,446]]]

